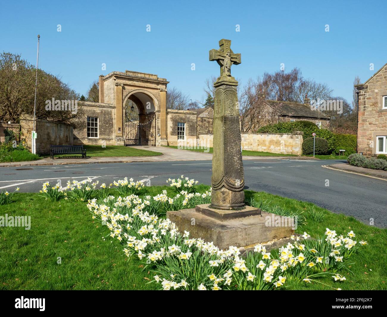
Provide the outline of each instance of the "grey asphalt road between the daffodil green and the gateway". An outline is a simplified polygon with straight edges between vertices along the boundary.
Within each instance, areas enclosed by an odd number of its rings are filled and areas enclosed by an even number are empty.
[[[283,197],[306,200],[333,212],[354,216],[369,224],[387,228],[387,182],[362,175],[329,170],[323,165],[342,161],[296,159],[244,160],[246,189],[265,191]],[[166,179],[185,175],[211,183],[211,161],[141,162],[80,164],[0,168],[0,190],[38,192],[42,183],[62,185],[70,178],[93,177],[99,183],[112,183],[125,176],[144,180],[147,185],[165,185]],[[329,180],[329,186],[325,186]],[[1,210],[1,207],[0,207]]]

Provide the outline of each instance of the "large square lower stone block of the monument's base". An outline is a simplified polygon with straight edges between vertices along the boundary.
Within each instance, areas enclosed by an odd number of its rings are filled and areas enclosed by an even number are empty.
[[[223,250],[230,245],[251,247],[257,243],[271,242],[294,234],[291,226],[275,226],[278,223],[289,223],[282,219],[286,217],[264,211],[258,216],[221,221],[190,208],[168,211],[167,218],[176,223],[180,233],[184,233],[184,230],[189,231],[191,238],[203,238],[206,242],[214,242],[214,245]]]

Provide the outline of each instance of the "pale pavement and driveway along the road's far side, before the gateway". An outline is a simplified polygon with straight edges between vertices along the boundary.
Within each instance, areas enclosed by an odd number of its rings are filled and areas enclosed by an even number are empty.
[[[189,150],[173,149],[171,147],[154,146],[134,146],[136,149],[147,151],[156,151],[163,153],[157,156],[107,156],[107,157],[89,157],[82,158],[44,158],[36,161],[0,163],[0,167],[9,166],[48,166],[48,165],[67,165],[67,164],[90,164],[90,163],[132,163],[132,162],[161,162],[161,161],[200,161],[212,159],[211,153],[200,153]],[[243,156],[243,159],[260,159],[265,156]],[[289,158],[289,156],[276,156],[276,158]],[[301,156],[299,159],[310,159],[307,156]]]

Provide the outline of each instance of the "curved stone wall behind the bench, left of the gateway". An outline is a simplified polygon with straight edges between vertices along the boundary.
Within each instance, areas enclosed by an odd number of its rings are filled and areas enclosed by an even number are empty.
[[[31,150],[31,132],[33,130],[33,116],[20,116],[21,139],[26,139],[27,147]],[[50,145],[73,145],[73,127],[45,119],[36,120],[36,153],[50,153]]]

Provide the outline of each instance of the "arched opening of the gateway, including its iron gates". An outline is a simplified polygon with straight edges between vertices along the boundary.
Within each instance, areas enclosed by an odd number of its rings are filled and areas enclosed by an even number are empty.
[[[156,146],[155,101],[144,91],[132,91],[124,101],[126,146]]]

